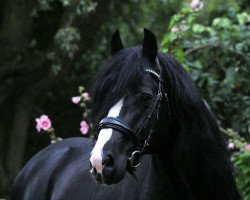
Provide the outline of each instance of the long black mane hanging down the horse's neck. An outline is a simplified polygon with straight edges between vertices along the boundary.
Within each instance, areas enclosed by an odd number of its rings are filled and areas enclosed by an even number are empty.
[[[210,108],[173,57],[159,53],[158,58],[174,118],[171,159],[180,179],[197,199],[238,199],[235,170]]]

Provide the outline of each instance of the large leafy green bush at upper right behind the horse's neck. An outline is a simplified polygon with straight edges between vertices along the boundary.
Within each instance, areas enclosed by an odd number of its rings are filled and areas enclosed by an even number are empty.
[[[163,50],[174,54],[190,72],[222,126],[250,136],[250,15],[215,18],[211,25],[194,23],[197,13],[182,9],[164,35]],[[183,19],[187,19],[183,25]],[[239,115],[238,113],[241,113]]]

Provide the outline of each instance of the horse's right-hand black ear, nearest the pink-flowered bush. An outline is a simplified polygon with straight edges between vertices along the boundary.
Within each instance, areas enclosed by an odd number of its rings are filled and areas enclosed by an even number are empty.
[[[158,47],[155,35],[144,28],[143,52],[150,62],[155,62],[157,51]]]

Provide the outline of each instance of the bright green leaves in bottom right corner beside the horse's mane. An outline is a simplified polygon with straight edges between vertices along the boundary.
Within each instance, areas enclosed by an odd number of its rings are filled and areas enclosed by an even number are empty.
[[[245,150],[236,157],[235,164],[238,169],[238,188],[244,200],[250,200],[250,150]]]

